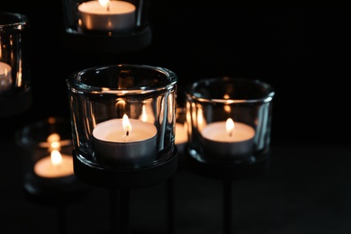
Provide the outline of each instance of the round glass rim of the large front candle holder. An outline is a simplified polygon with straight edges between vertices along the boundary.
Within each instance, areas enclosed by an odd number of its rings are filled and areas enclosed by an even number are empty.
[[[128,69],[128,68],[148,68],[150,70],[155,70],[159,73],[165,74],[165,76],[170,78],[170,82],[168,85],[165,85],[164,83],[160,83],[158,86],[139,86],[139,87],[134,87],[134,88],[111,88],[106,86],[97,86],[97,85],[89,85],[87,84],[87,80],[83,79],[82,77],[85,75],[87,72],[92,72],[95,71],[95,74],[101,73],[103,71],[108,71],[110,69],[120,67],[121,69]],[[127,95],[135,95],[139,94],[142,92],[143,94],[148,94],[148,93],[154,93],[158,91],[164,91],[170,88],[173,88],[173,86],[177,82],[177,77],[175,76],[175,73],[171,70],[168,70],[165,67],[153,67],[153,66],[148,66],[148,65],[134,65],[134,64],[118,64],[118,65],[107,65],[107,66],[100,66],[100,67],[89,67],[81,70],[80,72],[77,72],[73,74],[72,76],[68,77],[67,79],[67,85],[69,85],[69,88],[76,89],[76,92],[81,92],[81,93],[90,93],[94,92],[94,94],[123,94],[125,96]]]

